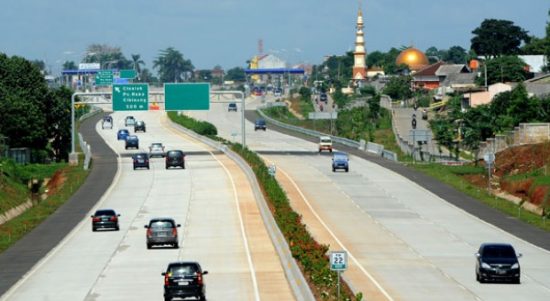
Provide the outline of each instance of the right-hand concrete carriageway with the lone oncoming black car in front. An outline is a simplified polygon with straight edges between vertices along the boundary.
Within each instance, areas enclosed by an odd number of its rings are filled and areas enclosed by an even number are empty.
[[[249,99],[253,109],[259,99]],[[240,108],[240,106],[239,106]],[[189,112],[240,141],[240,113],[226,105]],[[247,145],[268,164],[316,239],[347,250],[344,277],[370,300],[548,300],[550,252],[445,201],[389,169],[351,156],[333,173],[317,145],[247,122]],[[506,221],[503,221],[506,223]],[[522,283],[480,284],[474,254],[482,242],[508,242],[523,254]],[[369,300],[369,299],[367,299]]]

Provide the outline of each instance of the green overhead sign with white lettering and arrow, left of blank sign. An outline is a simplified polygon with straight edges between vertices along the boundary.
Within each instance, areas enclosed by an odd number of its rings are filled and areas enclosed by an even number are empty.
[[[113,85],[113,111],[147,111],[149,109],[149,85]]]

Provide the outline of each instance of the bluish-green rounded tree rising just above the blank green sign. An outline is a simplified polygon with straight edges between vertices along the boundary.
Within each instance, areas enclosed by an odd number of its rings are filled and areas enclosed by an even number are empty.
[[[191,61],[186,60],[183,54],[173,47],[160,51],[159,56],[153,61],[153,68],[158,69],[162,82],[187,80],[194,69]]]

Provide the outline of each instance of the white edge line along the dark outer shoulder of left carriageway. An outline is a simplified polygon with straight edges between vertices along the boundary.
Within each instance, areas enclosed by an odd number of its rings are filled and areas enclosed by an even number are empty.
[[[100,122],[96,124],[96,131],[100,127],[99,123]],[[121,169],[122,169],[120,154],[115,150],[115,148],[111,145],[111,143],[109,143],[109,141],[107,140],[104,140],[104,141],[107,145],[109,145],[109,147],[115,153],[117,153],[117,173],[115,174],[113,182],[111,183],[109,188],[107,188],[107,191],[105,191],[103,196],[101,196],[101,199],[99,200],[99,202],[97,202],[97,204],[92,207],[92,209],[88,212],[88,214],[84,217],[84,219],[82,219],[80,223],[76,227],[74,227],[73,230],[69,232],[69,234],[67,234],[57,246],[55,246],[50,252],[48,252],[46,256],[40,259],[40,261],[38,261],[38,263],[36,263],[31,268],[30,271],[28,271],[25,275],[23,275],[23,277],[19,281],[17,281],[17,283],[15,283],[4,295],[2,295],[0,300],[9,300],[10,297],[19,289],[19,287],[21,287],[31,276],[33,276],[42,266],[44,266],[44,264],[50,261],[50,259],[55,254],[57,254],[57,252],[59,252],[59,250],[61,250],[76,235],[76,233],[79,232],[82,227],[84,227],[85,224],[88,224],[89,220],[87,217],[90,216],[91,212],[95,211],[95,208],[99,207],[101,204],[105,202],[105,200],[107,199],[107,196],[111,194],[111,191],[118,184],[118,181],[120,180]]]

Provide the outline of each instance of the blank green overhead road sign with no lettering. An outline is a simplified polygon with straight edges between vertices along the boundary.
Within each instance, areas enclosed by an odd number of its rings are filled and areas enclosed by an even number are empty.
[[[209,110],[209,83],[164,84],[166,111]]]

